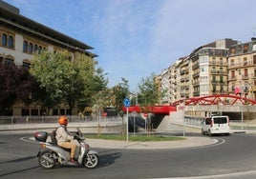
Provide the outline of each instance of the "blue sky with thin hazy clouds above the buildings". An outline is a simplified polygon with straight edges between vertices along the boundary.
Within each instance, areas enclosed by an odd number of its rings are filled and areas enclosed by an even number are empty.
[[[216,40],[256,35],[255,0],[4,0],[94,50],[109,87],[160,74]]]

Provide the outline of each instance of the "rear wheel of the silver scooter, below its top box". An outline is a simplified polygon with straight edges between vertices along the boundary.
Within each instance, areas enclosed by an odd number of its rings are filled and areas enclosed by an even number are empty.
[[[41,151],[38,155],[38,163],[43,169],[53,169],[56,163],[53,157],[53,151]]]

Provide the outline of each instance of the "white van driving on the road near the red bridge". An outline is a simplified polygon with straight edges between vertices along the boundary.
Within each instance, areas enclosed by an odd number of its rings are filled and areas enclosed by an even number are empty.
[[[229,135],[229,118],[227,115],[215,115],[203,120],[202,134],[225,134]]]

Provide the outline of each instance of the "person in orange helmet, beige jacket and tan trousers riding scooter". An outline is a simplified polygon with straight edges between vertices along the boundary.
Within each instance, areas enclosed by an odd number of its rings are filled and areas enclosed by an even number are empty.
[[[56,140],[57,140],[57,145],[65,148],[65,149],[71,149],[71,162],[76,164],[75,160],[75,149],[76,149],[76,144],[72,142],[72,140],[77,139],[77,136],[74,136],[70,134],[70,132],[67,129],[68,125],[68,119],[66,116],[61,116],[58,119],[58,123],[60,127],[56,129]]]

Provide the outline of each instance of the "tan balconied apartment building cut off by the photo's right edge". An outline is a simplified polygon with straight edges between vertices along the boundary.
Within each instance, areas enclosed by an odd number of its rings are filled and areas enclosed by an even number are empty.
[[[256,100],[256,38],[230,47],[228,93]]]

